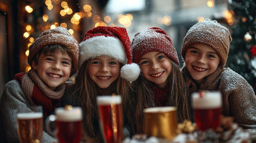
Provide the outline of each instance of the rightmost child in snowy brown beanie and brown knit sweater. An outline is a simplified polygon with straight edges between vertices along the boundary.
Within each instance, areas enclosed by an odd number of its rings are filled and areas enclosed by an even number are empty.
[[[242,76],[224,67],[231,41],[229,30],[217,21],[206,19],[196,23],[183,41],[182,73],[190,95],[203,90],[220,91],[221,113],[233,116],[244,129],[256,129],[254,90]]]

